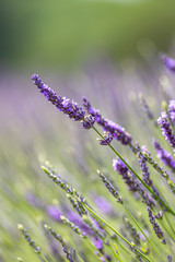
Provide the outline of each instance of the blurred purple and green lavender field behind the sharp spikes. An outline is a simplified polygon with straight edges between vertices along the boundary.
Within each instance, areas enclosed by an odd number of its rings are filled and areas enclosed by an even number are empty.
[[[160,63],[161,64],[161,63]],[[57,94],[67,96],[81,104],[81,97],[86,96],[95,108],[100,108],[103,116],[113,119],[132,135],[133,141],[147,144],[152,156],[156,152],[152,146],[152,138],[156,135],[164,143],[164,138],[153,122],[162,110],[161,103],[174,97],[174,76],[152,61],[149,67],[141,69],[137,64],[122,64],[117,69],[110,62],[89,66],[81,72],[67,75],[43,74],[42,79],[48,83]],[[37,73],[37,72],[36,72]],[[154,112],[151,122],[139,103],[142,93]],[[136,195],[131,194],[122,179],[113,169],[113,152],[101,146],[96,134],[83,130],[80,123],[70,121],[59,114],[33,86],[31,75],[4,73],[0,78],[0,261],[38,261],[37,255],[28,248],[18,231],[18,224],[22,223],[31,231],[37,245],[42,247],[48,261],[67,261],[61,247],[47,236],[44,224],[48,223],[69,240],[84,261],[96,261],[94,251],[71,231],[60,219],[60,214],[67,215],[80,226],[80,217],[71,209],[65,193],[59,190],[43,172],[40,164],[50,162],[58,172],[78,189],[91,202],[98,214],[117,227],[124,235],[128,235],[124,225],[122,207],[117,205],[113,196],[103,187],[96,175],[96,169],[110,175],[114,184],[122,195],[136,217],[145,217],[145,207]],[[127,158],[139,172],[139,165],[135,155],[127,147],[114,141],[113,145]],[[168,145],[165,148],[170,151]],[[159,162],[159,159],[156,158]],[[159,162],[160,163],[160,162]],[[174,206],[174,195],[168,191],[159,175],[151,167],[152,180],[166,196],[166,201]],[[168,169],[168,168],[167,168]],[[174,181],[173,175],[170,175]],[[125,192],[125,193],[124,193]],[[172,219],[174,222],[174,219]],[[85,224],[81,225],[85,228]],[[154,241],[151,226],[147,229],[149,238]],[[85,230],[85,229],[84,229]],[[165,233],[166,235],[166,233]],[[96,239],[92,239],[94,246]],[[168,242],[168,241],[167,241]],[[145,239],[143,240],[148,248]],[[174,245],[163,247],[163,260]],[[161,251],[158,242],[156,248]],[[143,247],[142,247],[143,248]],[[121,249],[122,250],[122,249]],[[109,253],[113,259],[112,251]],[[122,261],[135,261],[125,250]],[[135,257],[135,255],[133,255]],[[23,260],[20,260],[22,258]],[[122,254],[121,254],[122,258]],[[152,253],[151,253],[151,257]],[[175,258],[174,258],[175,259]],[[40,260],[42,261],[42,260]],[[153,261],[159,261],[158,258]],[[171,260],[170,260],[171,261]]]

